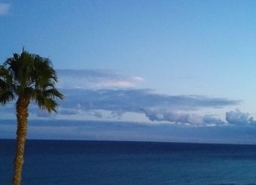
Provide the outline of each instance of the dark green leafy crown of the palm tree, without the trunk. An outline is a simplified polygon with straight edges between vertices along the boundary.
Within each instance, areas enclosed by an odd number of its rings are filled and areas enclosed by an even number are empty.
[[[49,58],[23,49],[21,54],[14,53],[0,66],[0,101],[5,104],[15,96],[26,97],[48,112],[56,111],[56,99],[64,97],[55,87],[57,81]]]

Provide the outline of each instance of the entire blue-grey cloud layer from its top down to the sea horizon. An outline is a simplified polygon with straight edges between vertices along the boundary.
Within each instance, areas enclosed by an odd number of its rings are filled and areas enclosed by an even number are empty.
[[[30,139],[200,143],[255,140],[254,118],[234,110],[240,100],[159,94],[136,87],[143,78],[106,70],[58,70],[58,74],[58,88],[65,95],[64,101],[59,102],[59,113],[49,115],[32,103]],[[223,110],[223,116],[214,110]],[[0,117],[0,138],[14,138],[15,121],[10,120],[15,119],[14,102],[0,106]]]

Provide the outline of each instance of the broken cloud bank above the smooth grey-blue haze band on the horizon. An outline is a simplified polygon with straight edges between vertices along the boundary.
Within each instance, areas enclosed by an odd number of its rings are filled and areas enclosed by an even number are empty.
[[[58,70],[60,91],[65,94],[59,102],[58,115],[49,115],[31,105],[33,118],[55,118],[102,121],[144,121],[148,123],[170,123],[196,126],[253,125],[256,122],[249,113],[233,111],[241,101],[211,98],[199,95],[159,94],[150,88],[136,88],[144,81],[139,76],[127,77],[116,72],[99,69]],[[223,116],[212,110],[232,107]],[[8,112],[13,107],[1,107]],[[211,109],[208,113],[201,110]],[[127,116],[128,115],[128,116]],[[140,118],[138,118],[140,117]],[[142,119],[141,119],[142,118]]]

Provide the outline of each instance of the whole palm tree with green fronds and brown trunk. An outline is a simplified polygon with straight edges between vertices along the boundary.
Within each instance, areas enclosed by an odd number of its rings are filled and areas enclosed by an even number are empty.
[[[0,103],[5,105],[14,99],[17,117],[17,146],[12,185],[20,185],[23,154],[26,141],[29,103],[34,101],[40,109],[56,112],[57,99],[63,99],[55,84],[58,78],[50,59],[24,50],[14,53],[0,65]]]

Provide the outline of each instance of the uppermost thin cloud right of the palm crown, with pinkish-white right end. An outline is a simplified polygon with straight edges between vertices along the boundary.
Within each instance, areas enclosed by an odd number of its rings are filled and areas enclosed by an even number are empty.
[[[143,78],[118,75],[100,69],[59,69],[59,88],[131,88],[144,81]]]

